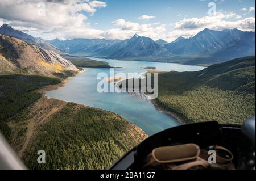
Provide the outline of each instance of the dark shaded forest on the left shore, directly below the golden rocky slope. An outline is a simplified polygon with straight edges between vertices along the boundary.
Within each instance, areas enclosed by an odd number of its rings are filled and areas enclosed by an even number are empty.
[[[38,100],[42,95],[34,92],[36,89],[59,82],[60,79],[40,76],[0,76],[0,131],[6,138],[10,137],[11,132],[5,120]]]

